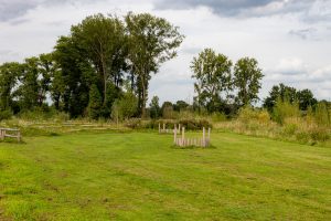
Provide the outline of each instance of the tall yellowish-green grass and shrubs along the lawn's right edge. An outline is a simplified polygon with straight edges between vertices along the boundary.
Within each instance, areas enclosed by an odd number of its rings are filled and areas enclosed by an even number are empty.
[[[331,127],[327,118],[329,115],[323,106],[317,107],[316,112],[310,108],[303,115],[297,104],[282,102],[274,110],[273,115],[269,115],[266,109],[244,107],[236,119],[217,123],[214,128],[331,147]]]

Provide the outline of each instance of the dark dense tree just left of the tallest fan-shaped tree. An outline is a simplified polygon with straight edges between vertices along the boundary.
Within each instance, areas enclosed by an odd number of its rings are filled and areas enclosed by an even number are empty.
[[[82,116],[88,106],[88,93],[93,84],[99,85],[93,63],[86,52],[71,36],[61,36],[53,57],[61,72],[55,72],[52,84],[54,103],[62,103],[62,109],[71,117]]]

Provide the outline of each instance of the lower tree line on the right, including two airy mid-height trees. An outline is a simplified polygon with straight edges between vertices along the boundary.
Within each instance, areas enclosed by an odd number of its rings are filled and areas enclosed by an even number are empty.
[[[277,115],[276,112],[279,112],[279,106],[284,103],[297,105],[298,110],[303,114],[309,108],[316,110],[318,105],[319,109],[324,109],[324,112],[329,112],[331,107],[327,101],[318,102],[310,90],[296,90],[282,83],[274,85],[269,95],[260,101],[258,93],[264,74],[254,57],[242,57],[233,64],[226,55],[216,53],[213,49],[205,49],[193,57],[191,71],[192,78],[195,80],[196,94],[193,104],[178,101],[174,104],[164,102],[160,105],[159,97],[154,96],[149,107],[152,118],[167,118],[171,115],[169,113],[185,109],[200,114],[222,113],[232,117],[237,115],[241,108],[252,106],[258,101],[271,116]]]

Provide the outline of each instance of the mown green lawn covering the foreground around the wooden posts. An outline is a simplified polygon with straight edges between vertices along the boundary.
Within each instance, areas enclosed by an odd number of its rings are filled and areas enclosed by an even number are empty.
[[[71,134],[0,144],[0,220],[330,220],[331,149],[234,134]]]

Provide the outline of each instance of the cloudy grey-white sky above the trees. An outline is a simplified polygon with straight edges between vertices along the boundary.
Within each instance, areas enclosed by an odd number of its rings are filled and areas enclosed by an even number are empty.
[[[152,76],[150,98],[191,102],[191,62],[212,48],[233,63],[258,61],[261,99],[284,83],[331,101],[331,0],[0,0],[0,63],[51,52],[87,15],[128,11],[166,18],[185,35]]]

